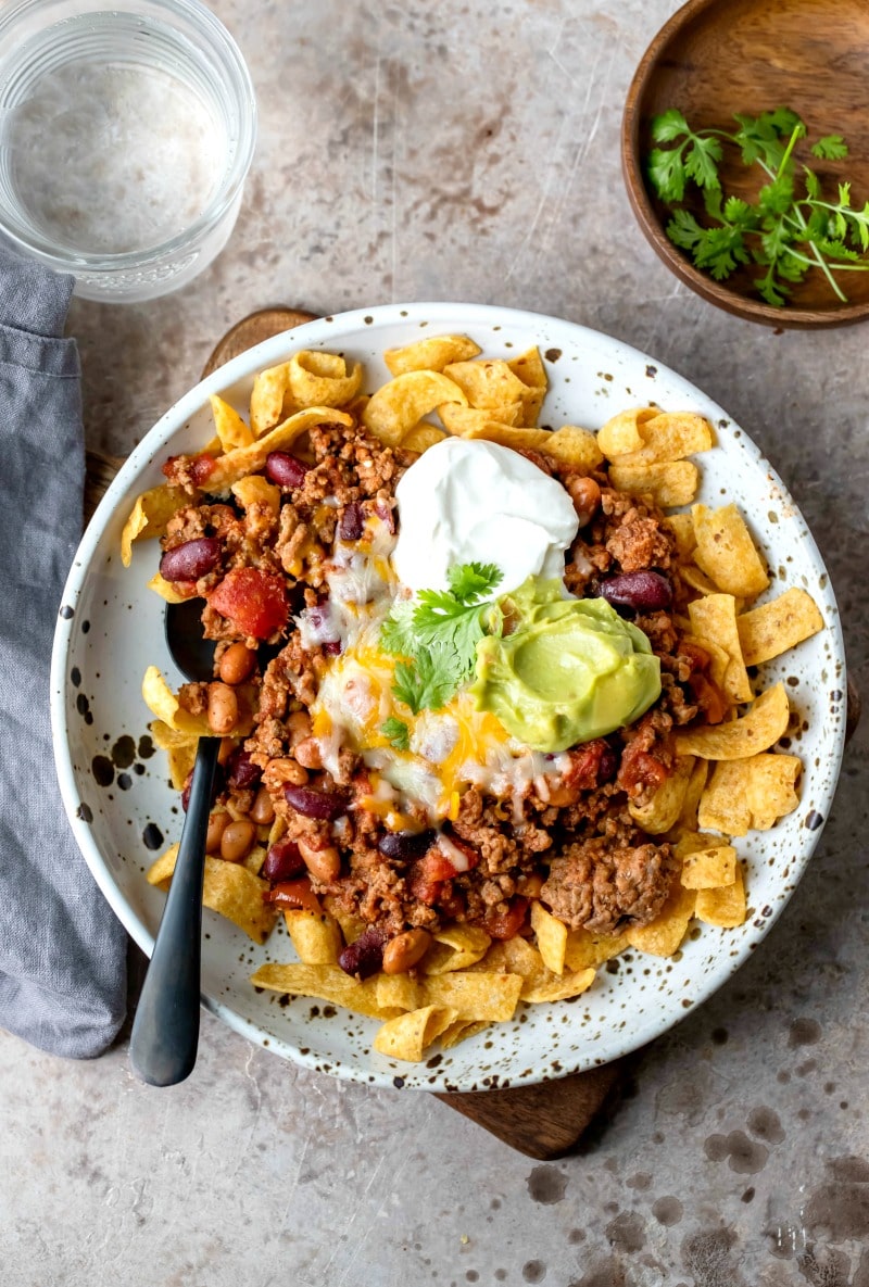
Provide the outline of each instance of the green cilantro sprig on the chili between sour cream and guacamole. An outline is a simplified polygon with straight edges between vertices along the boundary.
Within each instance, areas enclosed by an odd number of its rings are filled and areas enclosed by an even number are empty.
[[[502,579],[494,564],[460,564],[449,570],[449,589],[421,589],[415,602],[394,605],[380,629],[380,646],[400,659],[393,692],[415,716],[440,710],[474,673],[476,645],[501,628],[501,611],[487,596]],[[391,723],[381,728],[390,741]]]

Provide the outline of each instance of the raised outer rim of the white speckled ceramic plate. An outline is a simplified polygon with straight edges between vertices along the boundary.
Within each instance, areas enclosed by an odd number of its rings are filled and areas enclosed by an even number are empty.
[[[420,319],[425,320],[421,322]],[[444,302],[390,304],[310,322],[305,326],[295,328],[291,332],[285,332],[283,335],[266,340],[255,349],[251,349],[227,363],[227,366],[215,371],[211,376],[187,393],[170,411],[166,412],[166,414],[135,448],[109,486],[88,530],[85,532],[70,571],[62,602],[67,613],[68,609],[71,609],[72,614],[58,618],[54,637],[50,681],[51,723],[57,771],[64,807],[79,847],[100,889],[118,919],[126,927],[127,932],[139,947],[142,947],[148,955],[153,949],[153,936],[130,906],[124,892],[118,888],[107,865],[106,857],[94,839],[90,825],[85,822],[77,812],[82,797],[80,794],[76,773],[73,771],[70,745],[70,723],[67,718],[67,691],[70,689],[68,674],[71,665],[70,647],[73,633],[75,609],[79,605],[82,591],[88,584],[89,575],[91,574],[91,564],[109,520],[113,519],[120,507],[124,507],[122,512],[126,514],[127,506],[131,505],[134,497],[143,486],[140,477],[143,472],[148,468],[148,466],[152,466],[153,462],[165,458],[167,454],[167,444],[171,441],[174,435],[176,435],[185,426],[191,417],[202,409],[203,404],[207,403],[210,394],[227,390],[236,381],[251,377],[255,371],[283,360],[288,350],[318,345],[328,345],[330,347],[340,349],[341,337],[345,333],[360,332],[366,327],[376,329],[375,322],[377,326],[407,326],[408,338],[411,332],[413,336],[418,335],[418,331],[416,329],[417,327],[426,324],[430,324],[433,331],[440,326],[442,329],[462,329],[471,335],[475,333],[475,327],[480,331],[485,331],[487,333],[492,329],[498,329],[500,324],[503,324],[505,328],[507,326],[514,326],[516,328],[525,327],[529,331],[536,332],[538,328],[542,328],[543,324],[548,324],[557,328],[560,337],[564,340],[569,338],[569,341],[577,346],[577,350],[582,347],[583,340],[586,344],[610,344],[613,346],[614,360],[618,360],[618,355],[622,355],[626,362],[631,362],[635,366],[637,363],[646,363],[646,373],[650,371],[660,373],[660,376],[677,386],[678,395],[684,396],[686,403],[699,399],[702,400],[707,413],[715,414],[717,411],[718,414],[716,418],[718,425],[730,426],[727,430],[720,427],[720,435],[724,435],[726,431],[742,439],[743,449],[748,454],[749,461],[753,462],[754,467],[761,471],[763,479],[769,480],[771,492],[776,497],[776,505],[780,506],[783,514],[787,511],[805,526],[805,520],[799,516],[799,512],[790,499],[787,489],[781,484],[781,480],[770,467],[769,462],[762,457],[758,448],[751,441],[748,435],[734,426],[721,408],[716,408],[716,405],[700,394],[695,386],[690,385],[690,382],[677,376],[669,368],[657,363],[653,358],[646,358],[639,350],[635,350],[621,341],[610,340],[609,337],[601,336],[599,332],[590,331],[588,328],[574,323],[546,318],[542,314],[500,309],[487,305]],[[144,485],[149,484],[145,483]],[[827,580],[824,564],[807,529],[805,534],[801,533],[799,546],[802,561],[806,565],[805,570],[818,575],[820,578],[820,583],[824,584]],[[828,602],[832,605],[832,619],[828,622],[829,656],[836,665],[837,674],[841,676],[841,686],[843,687],[845,647],[838,614],[832,597],[832,589],[828,593]],[[757,943],[766,936],[770,927],[775,923],[788,898],[793,893],[793,888],[796,887],[797,880],[811,857],[815,844],[821,834],[836,790],[843,744],[845,718],[842,716],[836,730],[834,755],[830,757],[825,766],[824,784],[819,789],[818,794],[812,797],[812,808],[818,811],[820,819],[816,824],[812,824],[812,826],[815,826],[814,830],[806,829],[799,831],[801,844],[798,847],[798,852],[794,852],[790,860],[790,875],[788,884],[784,891],[776,893],[776,905],[774,907],[765,907],[763,914],[758,916],[751,927],[747,927],[747,933],[742,940],[739,950],[734,950],[730,956],[725,956],[722,960],[717,961],[715,968],[704,973],[702,978],[691,981],[693,996],[690,1004],[682,1001],[681,1004],[685,1008],[680,1009],[677,1013],[673,1013],[676,1009],[675,1004],[671,1009],[662,1008],[660,1012],[653,1012],[646,1015],[642,1022],[639,1022],[627,1031],[621,1031],[614,1035],[613,1041],[608,1044],[605,1051],[601,1051],[601,1046],[599,1045],[595,1049],[588,1049],[579,1054],[570,1053],[568,1058],[556,1059],[554,1062],[551,1058],[552,1051],[550,1050],[546,1059],[541,1058],[537,1066],[518,1067],[516,1069],[510,1071],[510,1076],[496,1077],[494,1081],[492,1077],[485,1079],[483,1076],[457,1077],[449,1069],[444,1069],[443,1072],[438,1069],[433,1073],[433,1071],[425,1064],[416,1066],[395,1063],[380,1057],[375,1066],[364,1063],[362,1058],[353,1059],[351,1062],[348,1060],[345,1063],[336,1062],[335,1059],[324,1062],[323,1058],[313,1049],[306,1048],[301,1051],[296,1045],[276,1037],[274,1033],[269,1033],[266,1039],[266,1035],[260,1027],[257,1027],[256,1023],[248,1021],[243,1015],[239,1015],[230,1005],[215,996],[203,994],[202,1004],[230,1028],[234,1028],[237,1032],[241,1032],[243,1036],[259,1045],[266,1045],[270,1050],[282,1054],[286,1058],[291,1058],[313,1069],[328,1071],[330,1073],[340,1077],[373,1085],[402,1085],[413,1089],[447,1091],[485,1090],[489,1089],[489,1085],[503,1088],[505,1085],[523,1085],[555,1080],[556,1077],[583,1071],[587,1067],[606,1063],[610,1059],[628,1054],[631,1050],[637,1049],[653,1037],[659,1036],[662,1032],[673,1027],[681,1018],[685,1017],[685,1014],[690,1013],[690,1010],[704,1001],[724,982],[726,982],[734,970],[749,956]],[[696,986],[694,986],[695,983]],[[564,1003],[556,1003],[556,1005],[561,1004]],[[534,1009],[545,1008],[536,1006]],[[552,1035],[555,1036],[556,1033],[554,1032]],[[472,1045],[472,1042],[469,1042],[469,1045]],[[465,1048],[460,1046],[458,1049],[462,1050]]]

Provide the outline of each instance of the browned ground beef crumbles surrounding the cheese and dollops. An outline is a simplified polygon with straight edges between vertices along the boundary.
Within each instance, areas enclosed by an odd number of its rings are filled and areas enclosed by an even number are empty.
[[[185,488],[191,503],[171,520],[162,544],[174,550],[201,537],[220,539],[218,565],[188,593],[194,588],[207,596],[236,568],[277,571],[286,579],[287,631],[270,656],[259,647],[247,681],[257,690],[257,716],[245,752],[251,772],[263,773],[260,786],[270,794],[282,839],[321,855],[331,849],[340,855],[335,879],[310,875],[314,893],[388,934],[433,929],[445,919],[479,924],[494,934],[523,932],[534,897],[572,929],[615,934],[651,921],[667,897],[676,862],[666,840],[637,828],[628,806],[646,803],[672,772],[673,727],[699,716],[715,721],[718,705],[724,710],[709,678],[709,658],[682,638],[677,602],[672,610],[635,618],[662,668],[660,698],[640,721],[559,757],[560,767],[529,785],[519,808],[516,801],[469,786],[442,829],[465,855],[467,870],[458,871],[444,860],[421,810],[404,824],[416,842],[408,840],[407,853],[397,856],[382,847],[388,829],[381,813],[369,807],[368,772],[359,757],[344,748],[340,767],[332,766],[333,776],[322,767],[308,708],[328,668],[330,645],[305,646],[294,615],[321,602],[336,533],[353,539],[372,512],[394,530],[395,485],[416,456],[384,447],[360,427],[340,425],[310,430],[300,450],[304,477],[297,486],[281,488],[278,511],[268,505],[245,511],[232,498],[203,494],[209,466],[201,463],[202,457],[170,461],[167,477]],[[573,498],[581,528],[566,555],[565,582],[574,595],[596,595],[601,579],[640,570],[664,575],[678,595],[675,543],[648,498],[615,490],[603,470],[587,476],[548,456],[523,454],[557,477]],[[255,638],[209,604],[203,622],[206,634],[220,641],[218,665],[230,642],[257,647]],[[184,704],[205,710],[207,686],[188,686]],[[288,802],[287,764],[294,780],[312,793],[314,806],[326,797],[327,806],[341,808],[337,820],[333,810],[308,816]],[[220,803],[246,816],[260,786],[233,785],[232,773],[224,773]]]

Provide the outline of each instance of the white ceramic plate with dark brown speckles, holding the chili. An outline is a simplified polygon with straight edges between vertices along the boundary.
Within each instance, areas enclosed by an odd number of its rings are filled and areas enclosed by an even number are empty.
[[[371,1050],[377,1024],[323,1003],[257,994],[250,973],[264,960],[290,960],[282,927],[255,947],[214,912],[205,914],[202,1001],[225,1023],[310,1068],[376,1085],[481,1090],[543,1081],[606,1063],[664,1032],[733,974],[790,897],[828,815],[845,741],[845,653],[836,600],[820,555],[781,481],[751,439],[686,380],[596,331],[533,313],[471,304],[389,305],[312,322],[242,354],[197,385],[130,456],[104,497],[76,555],[58,619],[51,699],[61,788],[81,851],[106,897],[139,946],[151,952],[164,896],[144,871],[176,839],[182,817],[162,755],[148,754],[149,713],[142,674],[157,664],[180,682],[162,633],[162,600],[145,588],[157,566],[154,542],[135,547],[124,569],[118,542],[136,494],[161,481],[169,454],[211,436],[209,394],[246,409],[254,372],[301,347],[339,350],[366,363],[368,386],[388,378],[380,353],[425,333],[461,331],[487,355],[538,345],[550,378],[541,423],[599,427],[614,412],[657,402],[709,417],[718,445],[700,459],[709,505],[735,501],[749,517],[774,574],[770,595],[802,586],[827,629],[763,668],[784,680],[796,722],[792,749],[805,773],[797,811],[771,831],[738,842],[748,864],[751,915],[740,929],[696,927],[681,954],[659,960],[631,952],[601,969],[575,1001],[521,1006],[516,1021],[424,1064]]]

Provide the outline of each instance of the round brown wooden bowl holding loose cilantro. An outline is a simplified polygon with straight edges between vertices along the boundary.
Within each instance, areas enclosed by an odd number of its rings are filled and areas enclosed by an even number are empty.
[[[653,148],[650,122],[678,108],[693,129],[735,129],[734,112],[758,116],[790,107],[808,126],[797,162],[811,163],[824,192],[850,180],[852,203],[869,199],[869,4],[866,0],[689,0],[649,45],[628,90],[622,122],[622,166],[640,227],[659,257],[704,300],[729,313],[775,327],[832,327],[869,317],[869,273],[839,273],[848,302],[833,293],[820,270],[793,288],[784,308],[766,304],[740,268],[716,282],[694,268],[667,237],[669,214],[644,176]],[[818,161],[812,140],[842,134],[850,154]],[[727,148],[720,174],[724,189],[756,193],[753,174]],[[685,205],[689,205],[686,199]],[[702,212],[698,198],[695,212]]]

